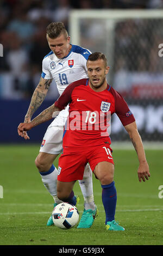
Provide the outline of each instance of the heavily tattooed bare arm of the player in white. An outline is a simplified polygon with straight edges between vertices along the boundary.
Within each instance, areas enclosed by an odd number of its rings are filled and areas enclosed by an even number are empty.
[[[39,108],[43,102],[43,100],[45,99],[48,89],[51,85],[52,79],[44,79],[44,78],[40,78],[40,82],[37,85],[32,99],[30,101],[30,105],[27,111],[27,114],[24,118],[24,123],[29,123],[30,119],[32,118],[32,115],[36,112],[37,108]]]

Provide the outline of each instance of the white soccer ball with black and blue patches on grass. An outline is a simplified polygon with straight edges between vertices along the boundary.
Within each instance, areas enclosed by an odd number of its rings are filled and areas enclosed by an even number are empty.
[[[52,212],[54,225],[61,229],[70,229],[77,224],[79,212],[76,206],[61,203],[55,206]]]

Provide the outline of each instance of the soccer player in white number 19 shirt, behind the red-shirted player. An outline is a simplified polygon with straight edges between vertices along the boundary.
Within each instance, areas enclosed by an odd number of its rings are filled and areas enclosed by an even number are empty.
[[[68,84],[88,77],[86,60],[91,52],[85,48],[70,44],[70,36],[68,36],[62,22],[50,23],[46,32],[51,52],[43,58],[42,75],[24,118],[26,123],[30,122],[32,115],[45,99],[52,80],[57,84],[58,92],[61,95]],[[57,197],[58,170],[53,165],[53,162],[62,152],[62,135],[67,117],[68,106],[48,126],[43,137],[39,155],[35,160],[42,182],[54,198],[54,206],[61,203],[61,201]],[[23,137],[24,139],[29,139],[27,132],[23,132]],[[85,167],[83,180],[79,180],[79,185],[84,197],[84,212],[79,228],[90,228],[95,217],[98,215],[98,209],[93,199],[92,172],[88,164]],[[70,200],[72,200],[73,204],[77,204],[79,198],[71,194]],[[47,225],[52,224],[51,215]]]

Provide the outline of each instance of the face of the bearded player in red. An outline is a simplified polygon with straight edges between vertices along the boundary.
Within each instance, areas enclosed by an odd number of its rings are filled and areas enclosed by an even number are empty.
[[[87,74],[92,88],[97,89],[103,86],[106,74],[109,72],[109,66],[105,65],[103,59],[97,59],[95,61],[87,61]]]

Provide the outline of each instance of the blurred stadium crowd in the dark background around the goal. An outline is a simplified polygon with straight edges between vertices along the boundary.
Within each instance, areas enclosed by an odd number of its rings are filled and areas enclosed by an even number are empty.
[[[45,30],[50,22],[62,21],[68,30],[68,15],[71,9],[127,8],[160,9],[163,8],[163,1],[1,0],[0,43],[3,45],[3,57],[0,57],[0,97],[3,99],[30,99],[40,79],[42,58],[49,52]],[[150,24],[147,22],[146,26],[148,27]],[[158,25],[156,24],[155,27]],[[91,31],[93,33],[93,28]],[[129,33],[133,34],[133,40],[128,39]],[[147,48],[148,50],[152,49],[154,44],[158,44],[157,36],[149,36],[147,41],[148,37],[143,38],[145,35],[140,33],[141,30],[137,30],[134,22],[133,24],[130,22],[129,27],[128,22],[120,23],[116,27],[115,39],[120,51],[118,55],[115,53],[116,67],[114,71],[122,71],[126,65],[131,70],[151,69],[153,71],[153,66],[150,65],[150,58],[154,55],[153,51],[150,53],[148,51],[143,59],[139,54],[136,62],[130,59],[129,54],[126,54],[126,51],[136,49],[135,58],[137,53],[141,53]],[[138,38],[141,47],[137,47]],[[89,40],[86,47],[89,48]],[[158,46],[155,49],[158,49]],[[132,62],[131,65],[130,62]],[[154,68],[158,71],[161,67],[154,65]]]

